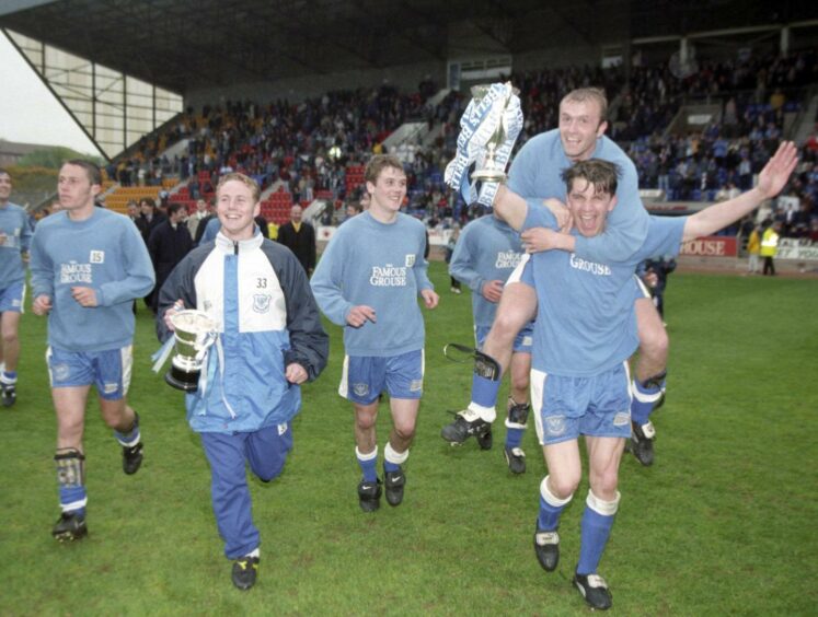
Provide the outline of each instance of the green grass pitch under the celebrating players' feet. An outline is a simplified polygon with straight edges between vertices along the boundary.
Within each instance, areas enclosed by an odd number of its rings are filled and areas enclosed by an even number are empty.
[[[337,394],[343,346],[304,387],[284,475],[252,481],[262,533],[256,586],[230,583],[209,500],[209,469],[182,395],[150,372],[158,342],[140,306],[130,401],[146,458],[133,477],[95,403],[85,428],[88,538],[50,537],[58,511],[45,319],[27,313],[19,401],[0,408],[2,615],[574,615],[569,585],[587,484],[563,515],[562,560],[543,572],[531,547],[545,474],[531,429],[528,473],[495,447],[439,436],[468,401],[471,370],[443,359],[472,337],[469,294],[431,277],[426,383],[406,498],[376,514],[357,504],[352,411]],[[818,603],[818,282],[671,276],[669,389],[656,416],[654,467],[621,468],[622,502],[602,573],[622,615],[807,615]],[[502,400],[505,400],[504,387]],[[389,414],[379,420],[381,453]]]

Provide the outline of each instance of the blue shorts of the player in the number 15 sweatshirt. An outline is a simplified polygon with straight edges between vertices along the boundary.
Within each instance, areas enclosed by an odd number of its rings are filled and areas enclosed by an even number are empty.
[[[51,387],[96,385],[105,400],[119,400],[128,394],[134,364],[134,348],[105,351],[66,351],[49,347],[46,350]]]

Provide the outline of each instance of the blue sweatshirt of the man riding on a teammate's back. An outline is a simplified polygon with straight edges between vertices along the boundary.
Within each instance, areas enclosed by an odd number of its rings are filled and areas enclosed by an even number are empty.
[[[577,236],[576,254],[602,264],[630,259],[647,236],[648,213],[640,198],[640,183],[633,161],[613,141],[602,136],[591,153],[592,159],[619,166],[617,207],[608,216],[604,233],[595,237]],[[563,170],[572,165],[560,141],[560,130],[542,132],[520,149],[509,170],[508,187],[521,197],[555,197],[565,201]]]

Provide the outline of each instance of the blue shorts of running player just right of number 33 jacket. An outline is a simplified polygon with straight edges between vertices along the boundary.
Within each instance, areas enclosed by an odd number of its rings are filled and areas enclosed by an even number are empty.
[[[358,405],[370,405],[384,389],[392,398],[420,398],[424,351],[400,356],[345,356],[338,394]]]

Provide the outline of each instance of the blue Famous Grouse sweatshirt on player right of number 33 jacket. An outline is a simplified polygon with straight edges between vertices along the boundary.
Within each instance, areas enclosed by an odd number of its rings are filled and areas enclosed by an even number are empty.
[[[417,295],[433,289],[424,259],[424,224],[399,212],[381,223],[369,212],[338,228],[310,284],[319,307],[344,328],[348,356],[399,356],[423,349],[424,323]],[[346,324],[353,306],[376,311],[376,323]]]

